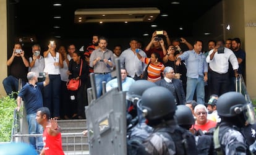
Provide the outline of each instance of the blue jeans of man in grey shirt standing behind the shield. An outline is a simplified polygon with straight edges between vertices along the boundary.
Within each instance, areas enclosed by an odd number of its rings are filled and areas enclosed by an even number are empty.
[[[110,80],[111,80],[111,73],[106,73],[106,74],[95,73],[97,98],[99,98],[102,94],[102,82],[107,83]]]

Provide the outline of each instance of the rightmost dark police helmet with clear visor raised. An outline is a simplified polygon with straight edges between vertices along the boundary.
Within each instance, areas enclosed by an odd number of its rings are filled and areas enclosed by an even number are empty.
[[[217,101],[218,115],[234,117],[244,113],[244,118],[249,124],[255,123],[255,112],[251,102],[245,101],[241,93],[234,91],[224,93]]]

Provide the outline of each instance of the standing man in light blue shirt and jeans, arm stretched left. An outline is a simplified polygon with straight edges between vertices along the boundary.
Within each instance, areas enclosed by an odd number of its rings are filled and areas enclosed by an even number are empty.
[[[187,64],[187,94],[186,101],[193,100],[196,90],[197,103],[205,103],[205,82],[207,82],[208,65],[206,57],[202,54],[202,44],[200,40],[195,41],[194,49],[186,51],[177,57],[176,65],[180,65],[182,60]]]

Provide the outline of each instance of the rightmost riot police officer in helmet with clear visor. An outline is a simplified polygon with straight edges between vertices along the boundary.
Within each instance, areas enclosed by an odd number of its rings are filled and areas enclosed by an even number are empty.
[[[221,123],[213,135],[218,153],[250,154],[249,146],[240,130],[245,124],[255,122],[252,103],[247,103],[241,93],[228,92],[220,96],[216,106],[221,117]]]

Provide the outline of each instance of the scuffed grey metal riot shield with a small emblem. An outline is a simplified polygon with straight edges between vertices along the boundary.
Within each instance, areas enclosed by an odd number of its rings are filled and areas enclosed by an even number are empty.
[[[85,110],[90,154],[127,154],[126,93],[114,88]]]

